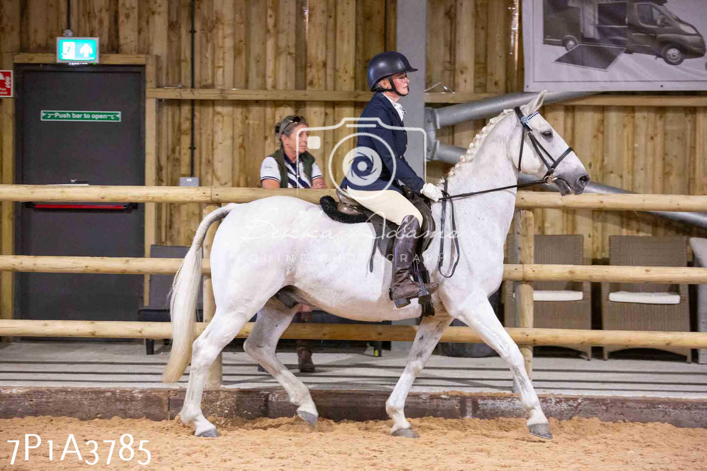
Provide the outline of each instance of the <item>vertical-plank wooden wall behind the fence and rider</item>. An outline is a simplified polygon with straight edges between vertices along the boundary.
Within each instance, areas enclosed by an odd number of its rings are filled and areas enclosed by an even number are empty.
[[[455,92],[494,94],[522,90],[515,4],[429,0],[427,86],[441,82]],[[0,52],[53,52],[54,37],[66,28],[66,6],[66,0],[3,0]],[[396,1],[381,0],[197,0],[194,87],[365,90],[368,59],[395,49],[396,8]],[[99,36],[103,53],[156,55],[158,87],[191,86],[190,21],[188,0],[71,1],[74,35]],[[272,128],[279,118],[300,114],[312,126],[329,125],[358,116],[363,105],[197,100],[194,175],[201,185],[259,186],[262,158],[276,149]],[[4,112],[9,108],[3,105]],[[683,194],[707,190],[705,113],[703,107],[552,105],[544,110],[592,180],[637,192]],[[192,168],[190,103],[160,100],[157,115],[158,182],[177,185]],[[483,125],[464,123],[438,136],[466,147]],[[344,134],[326,132],[322,148],[332,149]],[[3,145],[10,141],[5,138]],[[313,153],[325,169],[324,152]],[[447,167],[431,163],[428,177]],[[337,169],[334,178],[341,178]],[[187,245],[200,214],[195,204],[158,205],[158,242]],[[692,232],[627,213],[547,210],[537,211],[535,221],[538,233],[584,233],[595,259],[607,257],[609,234]]]

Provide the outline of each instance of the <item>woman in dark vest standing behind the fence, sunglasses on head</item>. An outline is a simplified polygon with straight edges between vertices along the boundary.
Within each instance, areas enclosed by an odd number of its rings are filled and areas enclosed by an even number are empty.
[[[286,116],[276,124],[275,135],[280,141],[280,148],[264,158],[260,165],[260,185],[263,188],[326,188],[322,170],[307,151],[309,132],[302,131],[304,127],[307,127],[307,122],[301,116]],[[309,322],[311,318],[312,308],[300,304],[293,322]],[[297,364],[302,373],[315,371],[309,340],[297,341]],[[262,370],[262,367],[258,369]]]

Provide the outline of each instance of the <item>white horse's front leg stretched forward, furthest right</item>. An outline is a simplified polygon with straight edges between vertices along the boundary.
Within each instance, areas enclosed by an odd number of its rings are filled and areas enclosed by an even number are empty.
[[[525,372],[525,363],[520,349],[496,318],[496,313],[493,312],[489,299],[486,296],[472,293],[458,306],[452,302],[447,307],[453,317],[472,327],[481,336],[481,339],[496,350],[510,367],[513,381],[518,385],[520,404],[527,413],[526,423],[530,433],[542,438],[552,438],[547,417],[542,412],[540,401]]]

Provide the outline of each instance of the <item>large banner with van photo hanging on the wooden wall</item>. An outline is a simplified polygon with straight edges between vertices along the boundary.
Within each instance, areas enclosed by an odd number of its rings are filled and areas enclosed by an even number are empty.
[[[707,0],[523,0],[525,91],[707,90]]]

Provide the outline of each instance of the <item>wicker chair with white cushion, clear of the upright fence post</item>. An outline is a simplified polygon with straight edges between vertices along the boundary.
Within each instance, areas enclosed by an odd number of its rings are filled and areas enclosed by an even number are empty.
[[[648,267],[685,267],[687,243],[684,237],[609,237],[609,264]],[[632,293],[666,293],[677,304],[612,301],[610,296]],[[628,293],[626,293],[628,292]],[[667,294],[672,293],[672,294]],[[613,297],[612,296],[612,297]],[[641,294],[639,296],[645,297]],[[653,295],[648,295],[653,296]],[[602,283],[602,327],[605,330],[652,330],[689,332],[690,313],[686,284]],[[609,353],[626,347],[604,347],[604,360]],[[691,349],[662,348],[685,355],[692,362]]]

